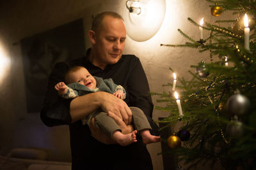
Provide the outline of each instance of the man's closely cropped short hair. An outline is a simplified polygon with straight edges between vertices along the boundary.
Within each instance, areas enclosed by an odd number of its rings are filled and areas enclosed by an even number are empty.
[[[113,18],[119,18],[120,20],[124,20],[121,15],[113,11],[104,11],[102,13],[97,14],[92,21],[92,31],[97,32],[102,27],[102,20],[104,17],[110,16]]]

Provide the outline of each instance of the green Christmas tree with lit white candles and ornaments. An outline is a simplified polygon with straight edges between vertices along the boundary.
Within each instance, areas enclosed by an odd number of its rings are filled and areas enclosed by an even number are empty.
[[[210,7],[218,3],[224,10],[231,10],[240,16],[244,13],[256,15],[256,1],[253,0],[207,0]],[[252,18],[255,20],[255,18]],[[191,24],[199,27],[194,20],[188,18]],[[235,34],[234,29],[226,28],[221,24],[236,22],[235,20],[218,20],[214,24],[204,23],[204,29],[211,31],[211,36],[205,38],[205,43],[196,42],[187,34],[178,30],[189,42],[182,45],[164,45],[171,47],[196,48],[198,52],[210,51],[211,56],[218,57],[216,62],[205,63],[205,71],[209,76],[200,78],[198,73],[191,74],[189,81],[178,78],[180,89],[180,103],[184,117],[179,120],[179,110],[175,99],[170,94],[159,96],[159,102],[166,106],[157,109],[170,112],[166,122],[189,122],[186,129],[191,132],[191,137],[186,143],[186,148],[173,149],[173,155],[178,155],[179,160],[190,164],[189,168],[198,164],[209,164],[211,167],[219,162],[225,169],[241,167],[249,169],[252,163],[248,160],[256,159],[256,31],[250,32],[250,51],[244,48],[244,36]],[[216,25],[217,24],[217,25]],[[234,31],[234,32],[233,32]],[[228,57],[228,61],[224,60]],[[228,66],[225,66],[228,62]],[[196,69],[202,64],[191,66]],[[172,69],[171,69],[172,70]],[[167,83],[170,86],[172,83]],[[234,91],[240,90],[251,103],[250,109],[238,119],[243,124],[244,134],[236,138],[231,136],[226,127],[234,115],[228,113],[230,106],[228,99],[234,96]],[[229,107],[229,108],[228,108]],[[166,139],[165,139],[166,141]],[[209,162],[208,162],[209,161]],[[252,169],[252,167],[250,167]]]

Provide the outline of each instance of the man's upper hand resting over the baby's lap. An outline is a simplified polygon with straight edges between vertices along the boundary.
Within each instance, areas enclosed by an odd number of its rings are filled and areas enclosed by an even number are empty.
[[[132,111],[121,99],[107,92],[103,92],[100,96],[100,108],[108,113],[108,115],[111,113],[115,114],[123,120],[126,125],[131,124]]]

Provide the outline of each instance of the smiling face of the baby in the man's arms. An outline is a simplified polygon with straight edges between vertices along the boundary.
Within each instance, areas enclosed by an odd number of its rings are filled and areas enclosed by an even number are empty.
[[[89,89],[95,89],[97,85],[95,78],[85,68],[79,69],[76,73],[73,73],[72,79],[74,83],[80,83]]]

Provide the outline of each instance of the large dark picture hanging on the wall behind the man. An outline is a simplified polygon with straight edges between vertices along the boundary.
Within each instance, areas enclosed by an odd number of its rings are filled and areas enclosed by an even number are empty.
[[[27,110],[28,113],[38,113],[42,108],[48,78],[54,65],[83,57],[86,53],[83,19],[24,38],[20,45]]]

